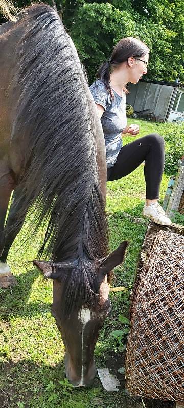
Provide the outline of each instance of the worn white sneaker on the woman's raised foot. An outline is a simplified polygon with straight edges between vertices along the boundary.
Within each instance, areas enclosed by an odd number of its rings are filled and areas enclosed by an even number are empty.
[[[150,218],[153,222],[159,225],[171,225],[170,218],[166,215],[163,208],[157,203],[151,204],[151,206],[143,207],[144,217]]]

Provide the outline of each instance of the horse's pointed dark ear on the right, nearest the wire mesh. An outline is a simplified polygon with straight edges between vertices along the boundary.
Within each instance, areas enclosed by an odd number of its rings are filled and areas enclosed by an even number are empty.
[[[115,268],[115,266],[122,264],[128,244],[128,241],[123,241],[121,245],[115,251],[110,253],[109,256],[101,263],[98,272],[100,283],[104,281],[104,278],[108,272]]]

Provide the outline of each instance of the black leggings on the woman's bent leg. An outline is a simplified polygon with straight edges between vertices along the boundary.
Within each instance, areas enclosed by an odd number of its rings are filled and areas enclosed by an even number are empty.
[[[107,168],[107,181],[125,177],[144,161],[146,198],[158,199],[164,169],[164,139],[156,133],[123,146],[114,166]]]

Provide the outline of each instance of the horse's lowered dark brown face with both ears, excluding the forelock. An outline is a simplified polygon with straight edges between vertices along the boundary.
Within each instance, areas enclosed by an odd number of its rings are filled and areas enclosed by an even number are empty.
[[[62,277],[59,277],[58,264],[53,272],[54,263],[33,261],[45,277],[54,280],[52,314],[61,332],[65,353],[66,377],[76,387],[88,386],[95,377],[94,349],[99,330],[110,312],[109,286],[107,274],[123,262],[127,241],[109,254],[97,269],[99,283],[99,306],[95,312],[90,308],[74,310],[69,316],[63,313],[62,297],[64,296]],[[69,272],[70,273],[70,272]],[[70,290],[70,289],[69,289]],[[67,293],[66,293],[67,296]]]

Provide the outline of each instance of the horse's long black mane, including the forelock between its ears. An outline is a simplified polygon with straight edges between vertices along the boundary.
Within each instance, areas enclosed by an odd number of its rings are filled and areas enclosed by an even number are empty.
[[[108,228],[85,77],[56,10],[39,3],[16,25],[24,28],[16,51],[19,100],[12,127],[12,141],[23,136],[27,152],[21,214],[31,209],[34,231],[47,222],[39,256],[44,251],[52,260],[77,260],[77,267],[64,272],[65,312],[84,305],[96,309],[94,261],[107,255]]]

